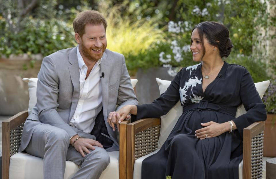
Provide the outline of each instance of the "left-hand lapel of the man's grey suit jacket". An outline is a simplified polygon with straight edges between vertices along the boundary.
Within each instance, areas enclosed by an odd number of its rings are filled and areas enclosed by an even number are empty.
[[[72,116],[75,113],[75,110],[76,110],[76,107],[78,104],[78,99],[80,96],[80,80],[79,80],[80,79],[80,70],[78,67],[77,48],[78,48],[78,46],[76,46],[75,48],[73,48],[71,50],[71,52],[69,53],[69,59],[68,59],[71,64],[68,68],[69,68],[69,72],[70,72],[71,81],[73,84],[72,105],[71,105],[68,123],[72,119]]]

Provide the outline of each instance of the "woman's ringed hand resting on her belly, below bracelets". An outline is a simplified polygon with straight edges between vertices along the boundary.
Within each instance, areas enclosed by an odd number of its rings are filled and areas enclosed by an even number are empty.
[[[214,121],[210,121],[208,123],[201,123],[201,125],[204,127],[195,131],[196,138],[200,140],[210,137],[216,137],[230,130],[230,125],[228,122],[220,124]]]

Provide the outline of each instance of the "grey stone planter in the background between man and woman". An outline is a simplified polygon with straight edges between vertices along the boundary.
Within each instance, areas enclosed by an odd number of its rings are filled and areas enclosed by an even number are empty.
[[[173,80],[174,77],[169,76],[168,70],[169,68],[164,67],[138,69],[136,74],[138,82],[135,88],[139,105],[152,103],[155,99],[160,97],[159,87],[155,78]]]

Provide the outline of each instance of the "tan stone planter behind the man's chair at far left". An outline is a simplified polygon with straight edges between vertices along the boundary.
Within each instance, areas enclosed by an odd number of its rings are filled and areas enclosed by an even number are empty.
[[[28,84],[22,78],[37,78],[42,60],[0,58],[0,115],[28,110]]]

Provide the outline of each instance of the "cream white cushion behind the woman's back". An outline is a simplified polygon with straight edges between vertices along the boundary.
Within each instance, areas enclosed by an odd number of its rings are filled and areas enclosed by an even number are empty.
[[[168,86],[171,83],[171,81],[161,80],[159,78],[156,78],[156,82],[158,83],[158,86],[159,86],[160,95],[167,90]],[[261,98],[263,97],[264,92],[267,90],[268,85],[269,85],[269,80],[255,83],[255,87]],[[240,105],[237,109],[236,117],[239,117],[240,115],[245,113],[246,113],[246,110],[244,109],[244,105]],[[173,127],[177,123],[177,120],[179,119],[181,114],[182,114],[182,106],[180,104],[180,101],[178,101],[176,105],[172,109],[170,109],[170,111],[166,115],[161,116],[161,131],[160,131],[160,136],[158,140],[158,149],[161,148],[163,143],[168,138],[170,132],[173,130]]]

